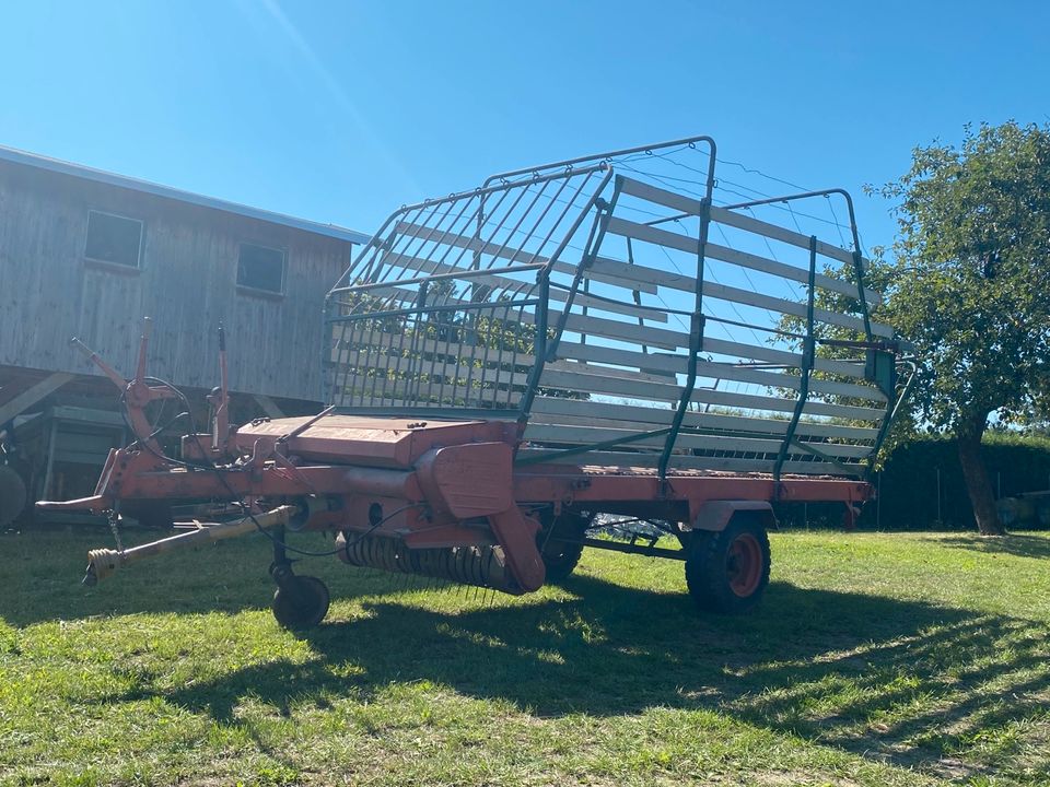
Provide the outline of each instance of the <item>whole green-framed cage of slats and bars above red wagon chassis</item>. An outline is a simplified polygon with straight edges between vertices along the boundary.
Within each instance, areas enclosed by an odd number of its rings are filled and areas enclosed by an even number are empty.
[[[329,293],[330,401],[520,418],[524,462],[863,474],[895,356],[852,204],[734,202],[715,161],[696,138],[398,211]]]

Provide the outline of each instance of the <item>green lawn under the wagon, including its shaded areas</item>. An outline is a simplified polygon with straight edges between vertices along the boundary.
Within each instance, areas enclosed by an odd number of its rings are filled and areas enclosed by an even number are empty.
[[[669,561],[515,599],[315,560],[306,636],[260,537],[81,588],[106,543],[0,537],[2,784],[1050,784],[1045,536],[774,535],[739,619]]]

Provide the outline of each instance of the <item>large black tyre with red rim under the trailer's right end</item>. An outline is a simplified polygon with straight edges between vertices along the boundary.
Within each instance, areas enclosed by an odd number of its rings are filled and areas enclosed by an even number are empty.
[[[705,612],[739,614],[754,608],[769,584],[769,537],[762,524],[736,516],[721,532],[693,535],[686,585]]]

